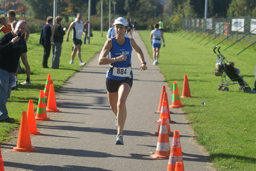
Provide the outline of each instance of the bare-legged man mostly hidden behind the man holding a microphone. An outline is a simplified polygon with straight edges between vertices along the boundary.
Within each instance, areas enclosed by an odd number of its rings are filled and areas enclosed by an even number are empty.
[[[9,10],[7,12],[7,18],[8,18],[8,20],[10,20],[10,22],[12,22],[12,24],[11,24],[12,31],[14,31],[15,26],[16,26],[17,22],[19,21],[16,18],[15,11],[14,10]],[[28,56],[27,56],[28,48],[27,48],[27,44],[26,44],[26,42],[28,40],[28,37],[29,37],[29,34],[30,34],[30,30],[28,29],[28,27],[26,28],[25,33],[26,33],[26,35],[23,34],[23,37],[25,37],[24,38],[25,39],[25,47],[23,48],[24,52],[22,52],[22,54],[21,54],[21,60],[22,60],[23,65],[25,66],[27,78],[24,82],[22,82],[20,84],[22,84],[22,85],[31,85],[31,83],[30,83],[30,66],[28,64]],[[17,79],[17,82],[18,82],[18,72],[15,73],[15,76],[16,76],[16,79]]]

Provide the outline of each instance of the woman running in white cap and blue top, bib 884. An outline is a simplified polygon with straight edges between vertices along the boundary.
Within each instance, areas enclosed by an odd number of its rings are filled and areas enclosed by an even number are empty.
[[[134,39],[125,37],[127,22],[119,17],[114,22],[116,36],[106,41],[99,57],[100,65],[109,65],[106,74],[108,102],[116,116],[116,145],[124,145],[123,130],[126,121],[126,99],[130,93],[132,74],[132,48],[137,52],[141,62],[140,70],[147,69],[144,55]]]

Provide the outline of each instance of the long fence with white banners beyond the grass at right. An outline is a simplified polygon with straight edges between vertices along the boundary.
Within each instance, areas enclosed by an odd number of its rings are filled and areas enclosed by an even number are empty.
[[[219,45],[222,42],[234,41],[232,45],[236,42],[252,42],[250,46],[255,46],[256,44],[256,18],[255,17],[236,17],[236,18],[189,18],[182,19],[182,32],[180,36],[183,37],[189,35],[188,39],[196,39],[198,37],[205,40],[208,38],[208,44],[212,40],[218,38],[221,41],[216,44]],[[210,39],[210,40],[209,40]],[[198,42],[198,43],[199,43]],[[232,46],[230,45],[230,46]],[[229,47],[230,47],[229,46]],[[247,48],[249,48],[248,46]],[[229,48],[228,47],[228,48]],[[245,49],[247,49],[245,48]],[[227,49],[227,48],[226,48]],[[244,49],[244,50],[245,50]]]

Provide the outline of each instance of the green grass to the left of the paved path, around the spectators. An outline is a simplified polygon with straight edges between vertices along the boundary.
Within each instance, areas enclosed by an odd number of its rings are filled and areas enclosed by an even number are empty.
[[[104,32],[103,35],[106,35],[106,32]],[[2,36],[2,33],[0,36]],[[43,46],[39,44],[39,39],[40,33],[30,34],[28,39],[27,54],[28,63],[30,64],[31,70],[30,81],[32,85],[21,85],[20,83],[24,82],[26,79],[26,74],[18,74],[19,90],[12,91],[6,104],[9,113],[8,115],[13,117],[16,123],[0,123],[0,143],[7,141],[14,136],[12,135],[12,130],[19,127],[22,111],[27,111],[28,101],[30,99],[33,100],[34,109],[37,108],[40,90],[44,89],[48,74],[51,74],[51,79],[53,80],[54,84],[54,91],[56,92],[62,85],[65,84],[65,81],[68,80],[68,78],[81,70],[77,56],[74,59],[74,63],[76,63],[76,65],[69,64],[73,44],[72,39],[70,39],[70,42],[64,41],[62,44],[60,69],[42,68],[42,57],[44,50]],[[106,36],[101,37],[100,32],[94,31],[94,37],[91,37],[90,44],[82,44],[82,60],[84,62],[88,62],[90,58],[94,57],[96,52],[101,51],[105,41]],[[22,62],[20,65],[24,69]],[[48,59],[48,66],[51,66],[51,55]]]

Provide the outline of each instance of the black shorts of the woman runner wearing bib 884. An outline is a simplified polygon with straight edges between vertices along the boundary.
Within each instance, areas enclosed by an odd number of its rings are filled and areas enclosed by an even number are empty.
[[[132,88],[132,81],[133,78],[126,78],[124,80],[111,80],[106,78],[106,87],[108,92],[114,93],[118,91],[119,86],[123,83],[127,83]]]

